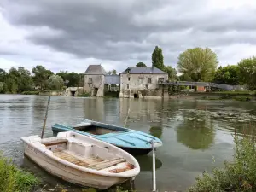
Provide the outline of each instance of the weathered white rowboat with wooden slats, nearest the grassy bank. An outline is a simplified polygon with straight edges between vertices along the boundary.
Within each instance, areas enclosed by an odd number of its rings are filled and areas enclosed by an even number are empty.
[[[41,139],[22,137],[26,156],[47,172],[67,182],[97,189],[134,179],[137,160],[112,144],[73,131]]]

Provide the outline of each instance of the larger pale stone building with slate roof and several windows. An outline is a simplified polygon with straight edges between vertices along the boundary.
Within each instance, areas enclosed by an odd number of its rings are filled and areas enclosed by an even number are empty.
[[[160,82],[166,82],[168,74],[156,67],[128,67],[120,73],[119,97],[162,96]]]

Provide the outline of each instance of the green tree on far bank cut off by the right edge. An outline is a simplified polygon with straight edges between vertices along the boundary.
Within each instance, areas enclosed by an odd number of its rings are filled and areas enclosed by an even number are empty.
[[[241,84],[249,90],[256,90],[256,57],[243,59],[238,63],[238,76]]]

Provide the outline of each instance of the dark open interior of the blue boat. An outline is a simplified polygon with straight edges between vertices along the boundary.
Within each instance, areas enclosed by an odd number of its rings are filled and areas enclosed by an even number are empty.
[[[73,129],[88,132],[90,134],[94,135],[104,135],[107,133],[113,133],[113,132],[119,132],[119,131],[125,131],[124,129],[114,129],[114,128],[105,128],[97,125],[74,125]]]

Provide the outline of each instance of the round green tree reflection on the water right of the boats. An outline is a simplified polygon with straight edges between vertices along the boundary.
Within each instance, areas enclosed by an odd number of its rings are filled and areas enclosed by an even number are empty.
[[[186,119],[177,126],[177,141],[192,149],[207,149],[214,143],[215,131],[210,119]]]

